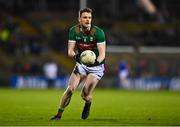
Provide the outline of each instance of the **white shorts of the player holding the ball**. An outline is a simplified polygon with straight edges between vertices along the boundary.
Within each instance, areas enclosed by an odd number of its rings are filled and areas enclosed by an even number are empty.
[[[98,80],[100,80],[104,75],[104,64],[94,66],[94,67],[87,67],[84,64],[76,63],[76,67],[78,69],[78,72],[81,75],[88,75],[91,74],[94,77],[96,77]]]

